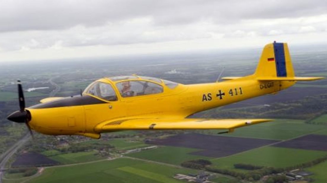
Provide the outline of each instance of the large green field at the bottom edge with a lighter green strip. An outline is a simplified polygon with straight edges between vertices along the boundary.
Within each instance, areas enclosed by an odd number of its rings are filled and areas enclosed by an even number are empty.
[[[112,161],[87,163],[68,167],[46,168],[43,174],[29,183],[72,182],[184,182],[173,178],[177,173],[196,173],[195,170],[120,158]]]

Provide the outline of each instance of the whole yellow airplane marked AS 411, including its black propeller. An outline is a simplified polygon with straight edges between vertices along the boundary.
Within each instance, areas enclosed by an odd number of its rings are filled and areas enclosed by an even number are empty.
[[[226,81],[183,85],[143,76],[105,77],[91,83],[81,95],[50,97],[25,108],[18,83],[20,110],[8,120],[49,135],[83,135],[122,130],[226,129],[268,119],[190,119],[191,114],[276,93],[295,84],[323,77],[295,77],[286,43],[267,44],[254,74],[224,77]]]

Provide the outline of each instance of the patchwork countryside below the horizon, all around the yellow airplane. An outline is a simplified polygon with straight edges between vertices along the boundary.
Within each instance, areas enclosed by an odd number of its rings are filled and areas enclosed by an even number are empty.
[[[30,106],[48,96],[78,95],[101,77],[137,74],[192,84],[215,82],[222,70],[222,76],[245,76],[254,71],[260,52],[217,50],[206,52],[205,57],[198,52],[5,64],[0,68],[1,181],[232,183],[269,182],[274,175],[283,175],[287,180],[321,182],[327,170],[325,80],[298,82],[275,95],[192,116],[274,120],[230,134],[218,134],[219,130],[123,131],[95,140],[34,133],[32,139],[24,124],[6,119],[18,108],[16,78],[22,80]],[[326,50],[304,53],[295,48],[291,53],[297,75],[327,76]]]

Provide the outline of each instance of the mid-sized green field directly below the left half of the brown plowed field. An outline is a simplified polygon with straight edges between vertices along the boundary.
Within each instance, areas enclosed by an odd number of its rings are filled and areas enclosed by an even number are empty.
[[[179,148],[179,147],[160,147],[148,149],[140,152],[129,153],[126,156],[146,159],[156,162],[165,162],[170,164],[180,165],[184,161],[195,159],[210,159],[210,157],[191,155],[188,153],[200,151],[201,149],[194,148]]]

